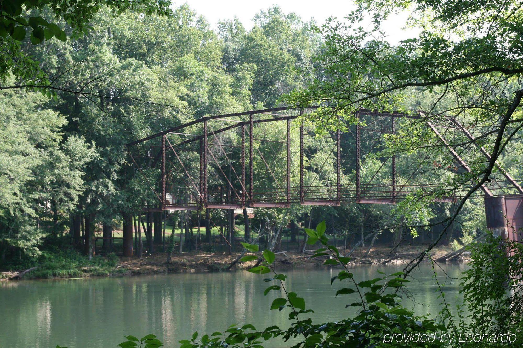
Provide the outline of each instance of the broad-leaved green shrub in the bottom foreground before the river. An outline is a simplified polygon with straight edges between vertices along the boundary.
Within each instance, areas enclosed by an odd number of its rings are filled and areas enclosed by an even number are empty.
[[[272,264],[275,254],[265,250],[259,255],[257,245],[242,243],[248,251],[258,254],[258,257],[264,260],[261,265],[250,269],[249,272],[274,274],[274,276],[264,279],[265,282],[276,283],[267,287],[264,294],[267,295],[270,291],[282,294],[282,297],[272,301],[270,309],[279,311],[290,309],[288,315],[289,320],[292,321],[291,327],[282,330],[277,326],[271,326],[257,331],[252,324],[245,324],[241,328],[232,325],[223,332],[205,334],[200,339],[198,339],[198,332],[195,332],[190,340],[180,341],[180,347],[263,347],[261,340],[279,338],[287,341],[291,337],[302,337],[302,341],[293,345],[294,347],[386,346],[386,344],[383,345],[384,334],[414,332],[436,334],[438,331],[447,330],[444,323],[429,319],[427,316],[415,316],[412,311],[401,306],[401,296],[397,292],[404,287],[405,283],[408,283],[408,280],[402,277],[402,272],[391,275],[379,272],[380,276],[375,279],[358,282],[346,266],[349,258],[341,256],[337,248],[328,245],[327,238],[324,236],[325,222],[320,223],[315,230],[306,229],[306,233],[309,235],[309,244],[312,245],[317,241],[323,244],[323,248],[317,249],[312,257],[328,257],[324,262],[325,265],[342,266],[343,270],[331,279],[331,284],[336,280],[344,284],[343,288],[337,290],[335,296],[350,294],[357,296],[358,299],[355,302],[347,305],[347,307],[359,308],[355,317],[317,324],[314,324],[311,318],[304,318],[313,311],[306,309],[304,299],[290,292],[286,287],[284,282],[287,276],[274,270]],[[256,256],[249,255],[245,256],[243,260],[256,258]],[[418,346],[438,346],[438,344],[440,343],[436,340],[435,343],[419,343]]]

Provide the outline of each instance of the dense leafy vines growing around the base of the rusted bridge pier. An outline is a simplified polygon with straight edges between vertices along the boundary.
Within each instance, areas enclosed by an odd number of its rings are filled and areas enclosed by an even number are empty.
[[[523,293],[521,277],[523,246],[520,242],[487,235],[485,242],[470,247],[470,268],[463,272],[458,307],[461,329],[473,334],[510,332],[516,335],[514,346],[523,343]],[[470,311],[464,318],[463,308]]]

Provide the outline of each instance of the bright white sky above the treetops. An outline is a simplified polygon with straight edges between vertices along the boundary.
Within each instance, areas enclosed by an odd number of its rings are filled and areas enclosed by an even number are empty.
[[[175,2],[180,5],[183,2]],[[216,29],[219,20],[232,19],[238,17],[245,28],[251,29],[254,25],[252,18],[261,10],[267,10],[272,5],[279,5],[283,13],[294,12],[304,21],[314,18],[318,25],[322,25],[328,17],[336,17],[343,20],[355,5],[351,0],[187,0],[189,6],[196,10],[198,15],[205,17],[211,24],[211,28]],[[416,36],[418,30],[405,27],[407,14],[396,16],[389,19],[382,27],[390,42],[407,39]]]

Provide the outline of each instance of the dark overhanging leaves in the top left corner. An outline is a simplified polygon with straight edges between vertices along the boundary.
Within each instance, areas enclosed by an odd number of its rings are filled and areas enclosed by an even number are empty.
[[[4,84],[9,74],[12,74],[20,80],[22,86],[45,87],[50,84],[48,76],[39,66],[43,62],[35,60],[21,49],[21,42],[29,32],[32,45],[52,38],[66,41],[68,35],[72,39],[78,39],[89,30],[94,30],[91,22],[101,8],[107,7],[115,13],[134,11],[169,16],[172,14],[169,6],[168,0],[3,1],[0,13],[0,81]],[[46,90],[43,89],[43,92]],[[51,94],[51,91],[47,92]],[[52,93],[54,94],[54,90]]]

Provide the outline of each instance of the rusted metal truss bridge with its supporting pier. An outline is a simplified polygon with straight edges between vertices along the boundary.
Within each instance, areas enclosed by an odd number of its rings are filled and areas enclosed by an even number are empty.
[[[430,134],[434,146],[451,154],[453,164],[441,168],[439,175],[471,172],[465,157],[470,157],[474,139],[456,118],[361,109],[345,132],[318,135],[303,122],[295,124],[295,119],[314,110],[281,107],[211,115],[127,144],[135,170],[154,193],[143,210],[289,207],[292,203],[336,206],[349,201],[394,204],[412,192],[434,195],[436,201],[456,201],[468,190],[454,188],[442,195],[439,184],[421,182],[418,173],[405,165],[406,155],[373,156],[384,142],[394,142],[396,133],[404,132],[408,124],[408,132]],[[269,123],[278,126],[269,129]],[[467,145],[450,145],[456,142],[449,142],[449,136],[463,137]],[[328,155],[319,150],[325,146],[332,146]],[[484,148],[477,150],[490,160]],[[352,154],[354,163],[348,163],[344,153]],[[366,167],[368,162],[376,168]],[[438,166],[436,160],[434,165]],[[481,186],[487,224],[501,223],[497,219],[504,214],[505,222],[520,226],[523,189],[501,166],[497,168],[501,177]],[[497,202],[506,194],[512,195],[503,204]]]

